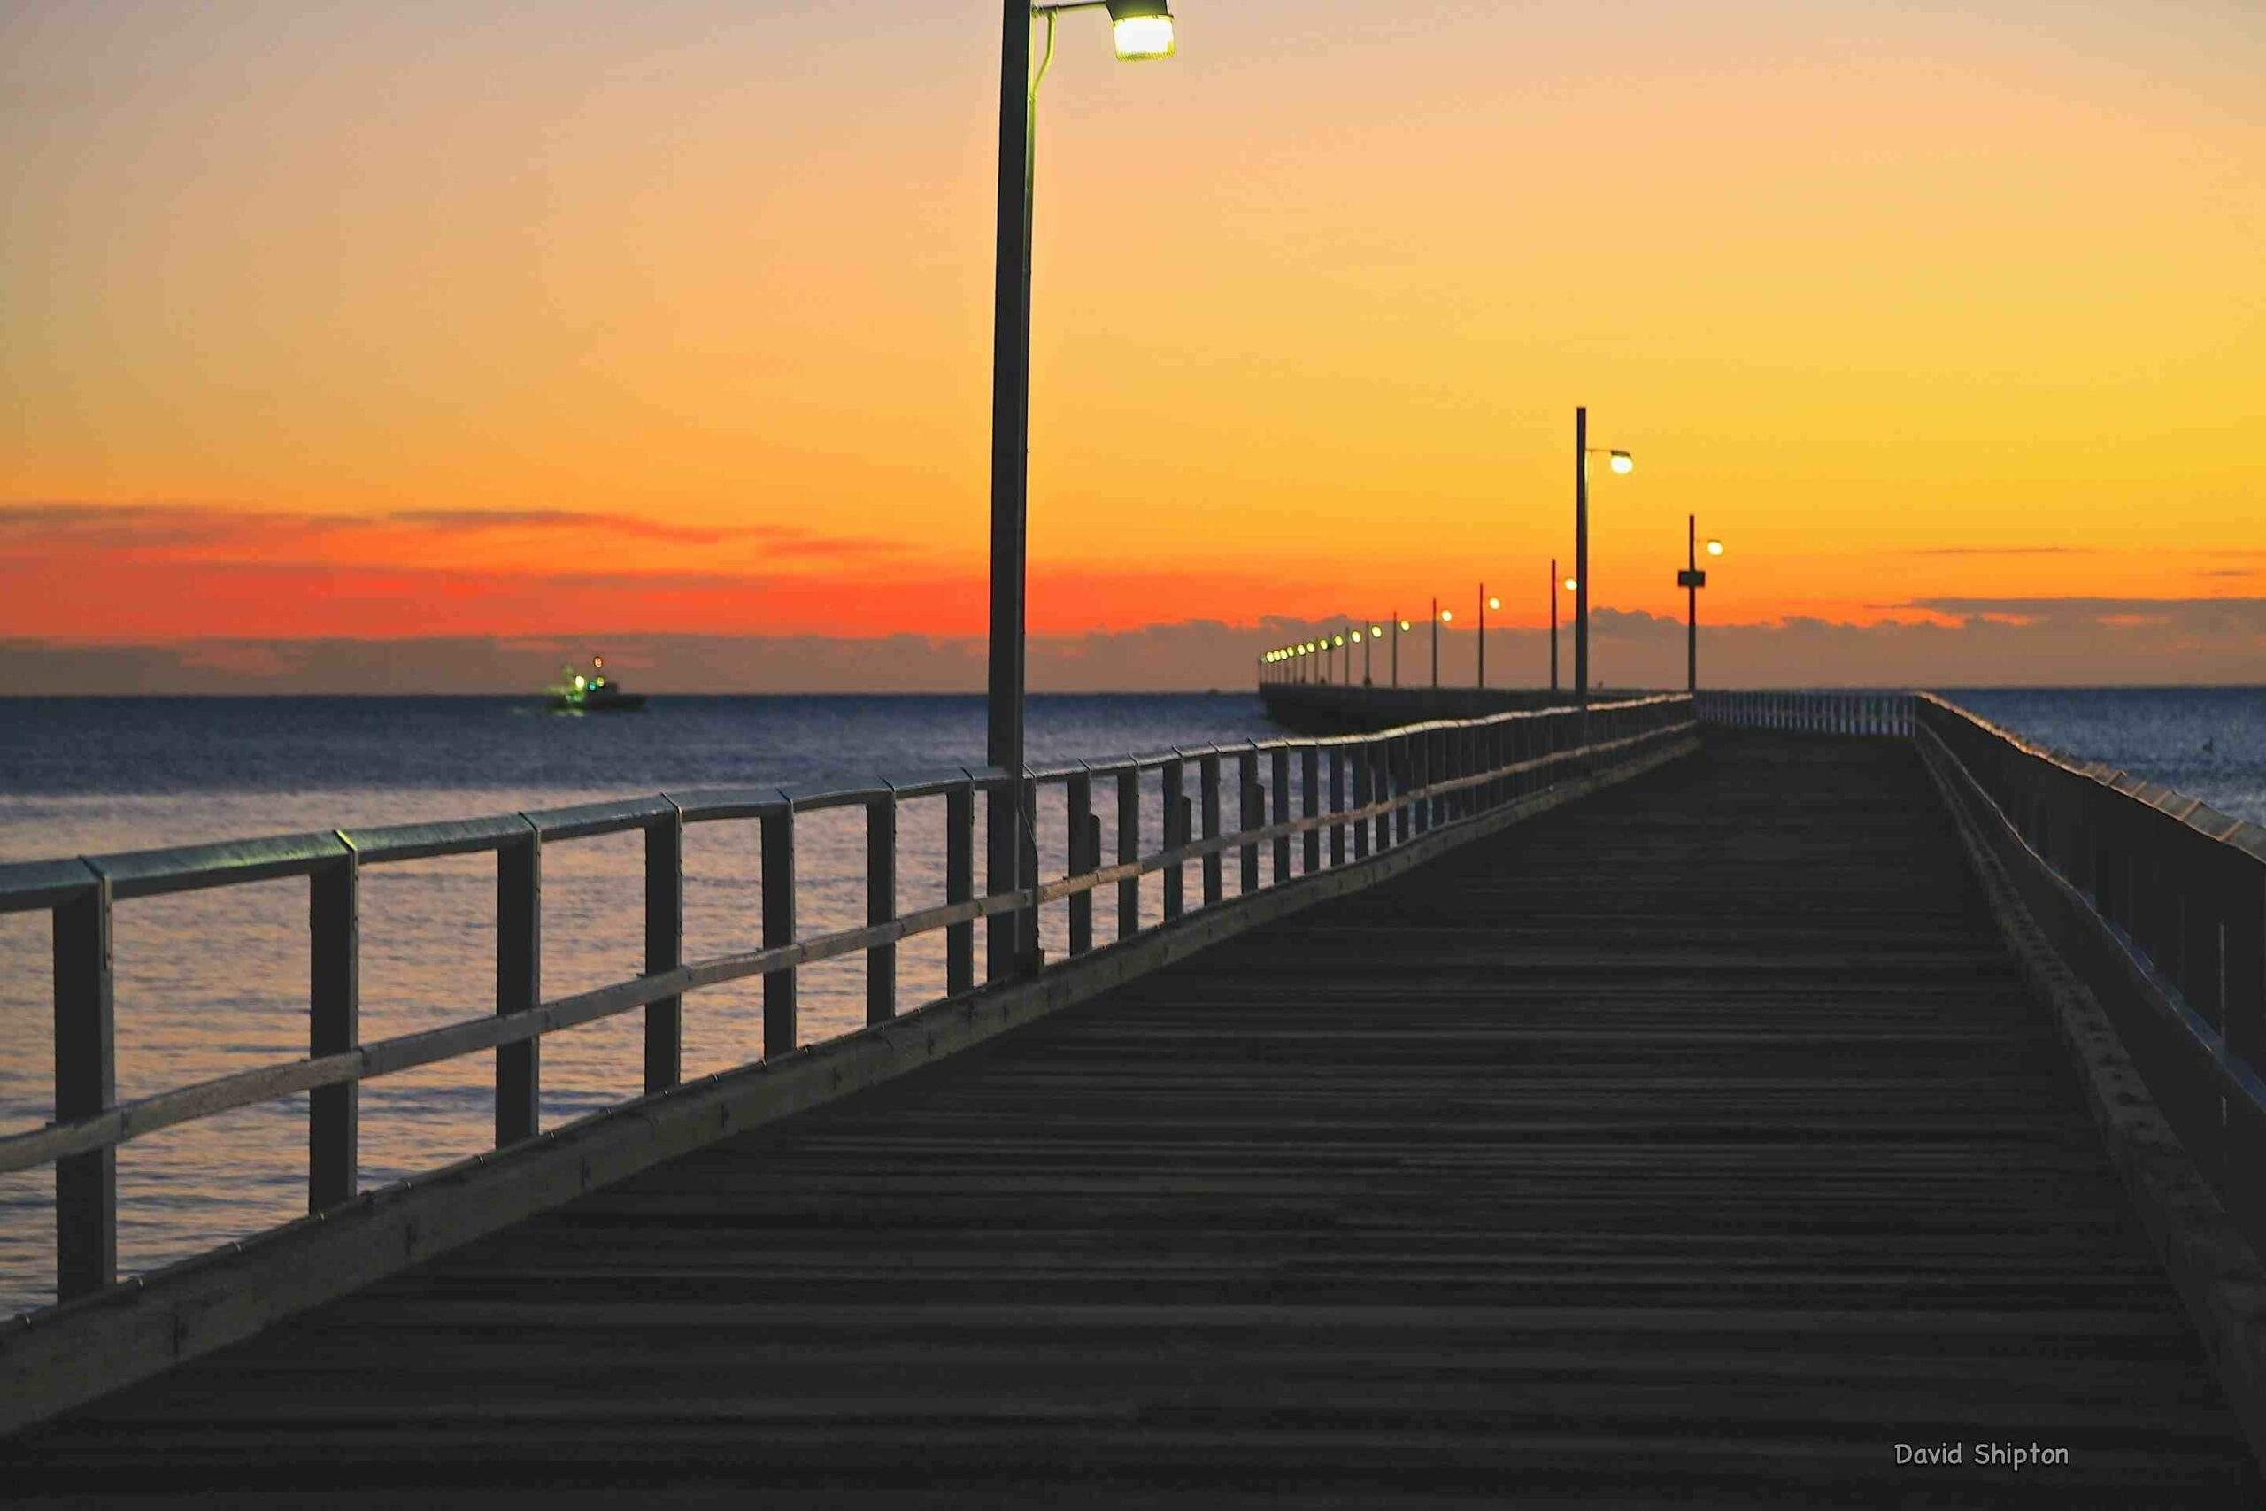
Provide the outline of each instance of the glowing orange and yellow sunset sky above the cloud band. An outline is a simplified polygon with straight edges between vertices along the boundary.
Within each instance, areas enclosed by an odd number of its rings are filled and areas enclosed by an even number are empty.
[[[213,9],[215,14],[202,14]],[[983,625],[997,14],[0,16],[0,637]],[[1063,20],[1033,628],[2266,591],[2266,14]]]

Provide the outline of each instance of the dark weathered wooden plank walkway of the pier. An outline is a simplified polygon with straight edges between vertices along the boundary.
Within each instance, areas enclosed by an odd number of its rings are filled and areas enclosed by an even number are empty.
[[[1892,1461],[1976,1439],[2076,1463]],[[1772,736],[7,1448],[276,1504],[2259,1497],[1917,761]]]

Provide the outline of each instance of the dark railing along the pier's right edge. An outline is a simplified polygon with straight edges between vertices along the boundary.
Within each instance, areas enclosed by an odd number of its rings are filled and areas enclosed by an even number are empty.
[[[2196,1169],[2266,1239],[2266,829],[1933,693],[1917,723]]]

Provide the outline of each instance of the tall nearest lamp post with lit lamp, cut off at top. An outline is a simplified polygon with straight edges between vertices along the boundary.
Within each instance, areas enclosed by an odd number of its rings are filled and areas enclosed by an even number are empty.
[[[1054,61],[1056,11],[1108,9],[1117,57],[1172,57],[1165,0],[1004,0],[999,43],[999,254],[993,283],[993,517],[990,657],[983,695],[983,759],[1008,772],[1006,802],[986,809],[986,890],[1022,890],[1038,874],[1038,845],[1024,877],[1031,786],[1024,777],[1024,546],[1031,505],[1031,188],[1036,172],[1038,86]],[[1047,52],[1031,72],[1031,23],[1045,16]],[[1004,883],[1004,886],[1002,886]],[[1038,970],[1038,908],[995,913],[986,924],[986,976],[1006,981]]]

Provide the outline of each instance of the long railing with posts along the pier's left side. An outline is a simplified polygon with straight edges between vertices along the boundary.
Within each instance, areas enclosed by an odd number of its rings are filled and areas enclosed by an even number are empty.
[[[666,1092],[682,1081],[682,1004],[700,988],[761,976],[761,1058],[773,1060],[798,1047],[798,967],[863,954],[866,1019],[881,1024],[897,1013],[895,949],[906,938],[945,933],[945,990],[954,997],[977,985],[979,917],[1067,904],[1067,945],[1079,956],[1094,949],[1097,895],[1115,893],[1119,940],[1151,927],[1142,920],[1142,879],[1151,872],[1162,872],[1160,922],[1169,924],[1226,899],[1230,856],[1237,895],[1262,888],[1262,852],[1271,854],[1267,886],[1294,883],[1303,874],[1407,845],[1441,825],[1643,761],[1663,741],[1690,729],[1690,698],[1656,695],[1595,705],[1586,716],[1573,709],[1520,711],[1341,739],[1049,766],[1029,772],[1029,779],[1033,788],[1063,791],[1067,870],[1024,888],[1004,890],[988,881],[983,893],[974,883],[974,806],[979,793],[986,802],[1011,800],[1013,777],[997,768],[952,768],[832,791],[659,793],[537,813],[0,865],[0,913],[50,911],[54,927],[54,1121],[0,1137],[0,1173],[54,1167],[57,1296],[93,1296],[116,1284],[118,1275],[116,1149],[159,1128],[304,1092],[308,1212],[324,1214],[360,1194],[363,1081],[492,1049],[496,1146],[521,1144],[542,1133],[539,1049],[548,1033],[644,1010],[644,1085],[648,1094]],[[1149,775],[1158,777],[1162,845],[1144,852]],[[945,802],[945,895],[900,911],[897,809],[922,797]],[[1115,856],[1101,854],[1097,802],[1115,806]],[[868,922],[798,938],[795,820],[825,809],[866,813]],[[761,947],[684,961],[684,829],[734,820],[759,827]],[[623,831],[641,831],[646,845],[644,974],[546,999],[544,852]],[[363,870],[460,854],[496,856],[494,1013],[365,1042],[358,1031]],[[113,908],[140,897],[276,877],[308,881],[306,1058],[120,1103]],[[1002,942],[999,933],[988,938],[986,976],[993,981],[1013,974],[1013,945]]]

